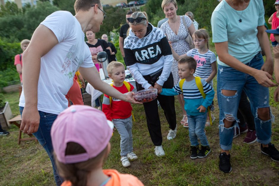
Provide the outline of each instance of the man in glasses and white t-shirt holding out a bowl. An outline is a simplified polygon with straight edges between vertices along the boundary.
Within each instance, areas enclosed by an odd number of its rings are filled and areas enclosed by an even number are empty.
[[[84,33],[88,30],[98,32],[106,16],[100,0],[76,0],[74,9],[75,16],[66,11],[47,16],[34,31],[23,53],[24,91],[19,103],[22,114],[20,130],[33,133],[45,148],[53,164],[57,185],[61,185],[63,180],[58,176],[53,161],[50,129],[57,115],[68,106],[65,95],[73,84],[75,72],[79,70],[95,89],[136,103],[132,92],[121,94],[100,79],[84,42]]]

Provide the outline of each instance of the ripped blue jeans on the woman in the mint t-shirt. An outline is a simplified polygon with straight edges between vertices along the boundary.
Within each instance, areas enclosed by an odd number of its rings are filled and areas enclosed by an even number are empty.
[[[264,64],[261,53],[258,53],[250,62],[246,63],[249,67],[260,70]],[[236,91],[233,96],[225,96],[222,90]],[[242,90],[247,94],[251,110],[255,119],[256,134],[258,142],[268,144],[271,141],[271,122],[274,116],[270,111],[271,119],[262,121],[258,117],[259,108],[269,108],[269,90],[261,86],[256,79],[248,74],[235,70],[232,67],[218,65],[217,75],[217,98],[219,104],[219,138],[220,146],[223,150],[232,149],[232,139],[234,127],[239,127],[237,119],[237,108],[239,105]],[[270,110],[270,109],[269,109]],[[234,122],[232,127],[225,128],[223,120]]]

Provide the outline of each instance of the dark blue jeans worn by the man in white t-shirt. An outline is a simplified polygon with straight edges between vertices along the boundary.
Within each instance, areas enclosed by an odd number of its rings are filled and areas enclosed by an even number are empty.
[[[23,107],[19,107],[20,114],[22,115]],[[60,186],[63,182],[63,179],[57,174],[57,168],[55,166],[54,158],[53,158],[53,146],[51,143],[50,137],[50,129],[54,120],[56,119],[56,114],[50,114],[46,112],[39,111],[40,114],[40,124],[38,131],[33,133],[33,135],[37,138],[39,143],[44,147],[47,155],[50,158],[53,168],[54,179],[56,185]]]

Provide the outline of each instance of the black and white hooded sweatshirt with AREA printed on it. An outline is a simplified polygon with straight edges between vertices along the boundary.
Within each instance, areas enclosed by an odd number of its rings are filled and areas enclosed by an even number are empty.
[[[143,78],[163,68],[157,83],[163,85],[169,78],[172,67],[172,51],[164,32],[148,23],[145,36],[139,39],[130,29],[124,40],[127,67],[137,83],[144,89],[151,85]]]

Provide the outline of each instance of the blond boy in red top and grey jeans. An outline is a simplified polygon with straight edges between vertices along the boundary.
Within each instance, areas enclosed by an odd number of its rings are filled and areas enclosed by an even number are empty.
[[[120,62],[111,62],[107,66],[109,77],[113,80],[113,88],[117,89],[122,94],[127,92],[136,92],[136,89],[125,80],[125,67]],[[128,90],[129,89],[129,90]],[[129,160],[136,160],[137,155],[133,152],[133,137],[132,137],[132,106],[130,103],[109,97],[104,94],[103,112],[107,119],[111,120],[115,128],[120,134],[120,155],[121,162],[124,167],[131,165]]]

